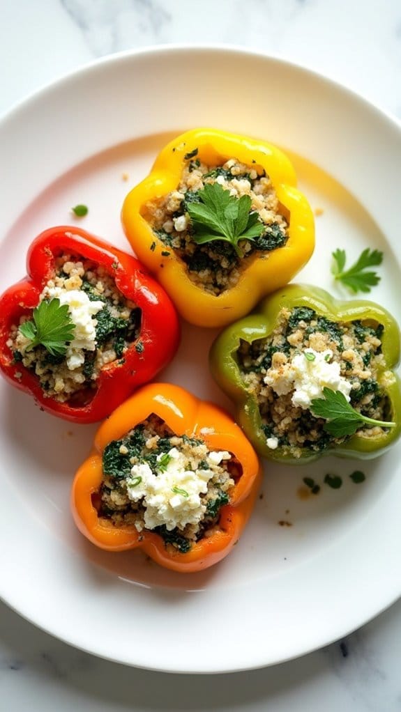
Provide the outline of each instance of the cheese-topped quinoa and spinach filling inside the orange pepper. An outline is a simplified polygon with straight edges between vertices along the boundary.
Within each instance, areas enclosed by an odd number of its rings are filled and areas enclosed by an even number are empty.
[[[155,414],[103,452],[103,481],[93,503],[118,527],[152,530],[182,553],[218,528],[240,466],[228,451],[177,436]]]

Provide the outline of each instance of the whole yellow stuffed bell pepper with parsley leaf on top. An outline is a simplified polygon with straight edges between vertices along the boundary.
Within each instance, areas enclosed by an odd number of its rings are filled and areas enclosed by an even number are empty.
[[[276,147],[214,129],[170,142],[126,197],[125,234],[179,313],[222,326],[311,257],[313,214]]]

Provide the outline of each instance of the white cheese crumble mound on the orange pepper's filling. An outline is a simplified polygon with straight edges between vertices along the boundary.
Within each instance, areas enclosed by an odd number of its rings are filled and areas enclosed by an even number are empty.
[[[153,473],[147,462],[135,464],[127,479],[127,496],[133,502],[141,501],[145,508],[144,521],[147,529],[165,525],[171,531],[183,529],[187,524],[202,520],[206,505],[202,494],[207,493],[207,483],[214,476],[212,469],[186,469],[188,459],[175,447],[168,451],[169,461]],[[229,452],[210,452],[209,464],[219,464],[229,459]],[[157,456],[163,462],[166,454]]]

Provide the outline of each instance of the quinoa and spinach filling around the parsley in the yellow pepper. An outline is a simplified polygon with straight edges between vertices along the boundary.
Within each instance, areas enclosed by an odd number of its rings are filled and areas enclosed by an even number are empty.
[[[177,190],[164,197],[148,201],[143,215],[155,235],[173,250],[187,267],[192,282],[218,296],[239,281],[241,271],[251,257],[282,247],[288,239],[288,221],[283,206],[266,172],[230,158],[222,165],[207,165],[196,157],[197,150],[187,157]],[[200,202],[199,192],[206,184],[219,183],[236,198],[248,195],[251,211],[256,211],[264,230],[254,240],[241,240],[239,256],[232,245],[222,240],[197,244],[188,214],[188,205]]]

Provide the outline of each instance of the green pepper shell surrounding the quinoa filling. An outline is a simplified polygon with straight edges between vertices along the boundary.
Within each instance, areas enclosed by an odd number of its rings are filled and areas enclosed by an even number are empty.
[[[382,324],[382,353],[385,367],[380,370],[377,382],[390,400],[390,419],[396,426],[380,435],[365,438],[358,433],[342,444],[333,445],[323,452],[303,448],[300,458],[293,458],[278,446],[272,450],[266,444],[261,414],[256,398],[246,389],[241,377],[236,352],[240,340],[249,343],[269,337],[277,325],[283,308],[307,307],[334,322],[373,320]],[[385,452],[401,434],[401,386],[394,372],[400,361],[400,331],[392,315],[381,306],[366,300],[336,300],[323,289],[309,285],[292,284],[264,299],[255,313],[226,328],[214,341],[209,355],[212,375],[219,386],[236,404],[237,422],[256,451],[267,459],[286,464],[304,464],[322,455],[371,459]]]

